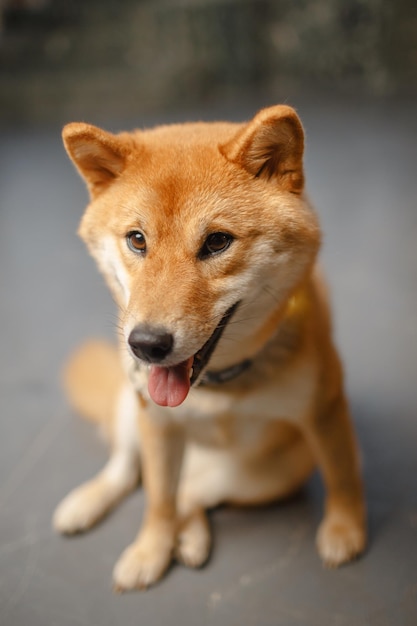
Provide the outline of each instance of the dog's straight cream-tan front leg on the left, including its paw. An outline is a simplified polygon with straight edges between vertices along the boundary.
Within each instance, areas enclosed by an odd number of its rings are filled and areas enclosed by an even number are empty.
[[[159,580],[171,562],[176,540],[184,427],[157,422],[142,411],[140,431],[147,508],[136,541],[116,563],[113,579],[118,591],[144,589]]]

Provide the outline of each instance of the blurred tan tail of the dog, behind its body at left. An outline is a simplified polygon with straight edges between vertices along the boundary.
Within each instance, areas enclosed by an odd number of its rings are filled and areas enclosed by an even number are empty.
[[[111,428],[124,381],[117,348],[99,340],[80,346],[63,372],[64,388],[72,407],[106,431]]]

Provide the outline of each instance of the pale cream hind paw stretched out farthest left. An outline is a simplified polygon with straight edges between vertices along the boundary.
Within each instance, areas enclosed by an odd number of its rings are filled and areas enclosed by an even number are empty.
[[[53,527],[65,535],[84,532],[103,517],[106,504],[101,489],[93,483],[81,485],[58,505],[52,519]]]

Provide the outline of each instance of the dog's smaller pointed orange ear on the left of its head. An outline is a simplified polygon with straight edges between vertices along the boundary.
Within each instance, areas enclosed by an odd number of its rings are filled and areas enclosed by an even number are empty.
[[[90,124],[64,126],[62,139],[69,157],[95,197],[123,171],[129,146],[121,136]]]

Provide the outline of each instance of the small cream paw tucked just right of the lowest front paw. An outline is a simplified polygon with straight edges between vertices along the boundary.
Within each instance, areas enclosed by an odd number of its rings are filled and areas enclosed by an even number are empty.
[[[204,511],[198,511],[184,521],[177,536],[175,556],[187,567],[201,567],[211,548],[211,534]]]

